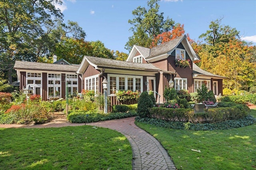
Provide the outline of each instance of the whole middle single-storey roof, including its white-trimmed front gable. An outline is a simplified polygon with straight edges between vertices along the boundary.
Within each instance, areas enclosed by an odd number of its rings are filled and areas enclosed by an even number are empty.
[[[161,70],[153,64],[147,63],[132,63],[127,61],[118,61],[112,59],[104,59],[99,57],[84,56],[80,67],[77,70],[78,74],[83,74],[87,66],[91,64],[96,69],[98,68],[115,68],[115,69],[126,69],[126,70],[141,70],[141,71],[156,71]]]

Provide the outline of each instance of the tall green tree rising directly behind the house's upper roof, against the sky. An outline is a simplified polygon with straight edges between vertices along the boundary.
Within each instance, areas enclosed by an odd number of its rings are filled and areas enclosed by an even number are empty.
[[[128,20],[128,23],[133,25],[130,28],[133,35],[129,37],[125,49],[130,51],[133,45],[149,48],[154,37],[172,29],[174,21],[168,17],[164,20],[164,13],[158,13],[160,6],[157,2],[158,0],[148,1],[148,10],[138,6],[136,10],[132,11],[134,19]]]

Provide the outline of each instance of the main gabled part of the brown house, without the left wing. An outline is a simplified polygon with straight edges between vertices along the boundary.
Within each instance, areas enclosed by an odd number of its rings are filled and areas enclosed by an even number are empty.
[[[176,90],[196,92],[204,83],[215,95],[222,93],[225,77],[200,69],[193,63],[199,59],[184,35],[151,49],[134,45],[126,61],[85,56],[77,74],[82,75],[83,88],[96,93],[102,93],[101,82],[107,78],[111,104],[118,104],[115,98],[118,90],[152,90],[157,102],[163,103],[164,89],[170,80]],[[189,66],[178,66],[178,60],[186,60]]]

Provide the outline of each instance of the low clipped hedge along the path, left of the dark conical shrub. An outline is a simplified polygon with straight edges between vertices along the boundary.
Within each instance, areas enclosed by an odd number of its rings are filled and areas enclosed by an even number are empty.
[[[129,111],[127,113],[97,113],[93,111],[71,111],[68,114],[67,119],[71,123],[90,123],[90,122],[98,122],[112,119],[122,119],[126,117],[134,117],[137,116],[135,111]]]

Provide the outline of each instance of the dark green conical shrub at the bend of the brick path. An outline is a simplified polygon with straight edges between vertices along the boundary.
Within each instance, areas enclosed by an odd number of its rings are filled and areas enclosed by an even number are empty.
[[[148,92],[144,91],[140,94],[140,98],[138,100],[138,108],[137,113],[140,117],[148,117],[149,116],[149,108],[153,107],[153,102],[150,99]]]

